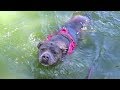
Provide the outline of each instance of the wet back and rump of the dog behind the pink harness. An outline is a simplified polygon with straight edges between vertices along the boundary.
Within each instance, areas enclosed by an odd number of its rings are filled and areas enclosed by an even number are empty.
[[[78,42],[81,29],[87,26],[89,23],[90,20],[86,16],[77,15],[72,17],[67,23],[65,23],[64,26],[68,29],[75,42]]]

